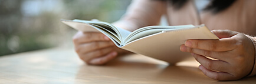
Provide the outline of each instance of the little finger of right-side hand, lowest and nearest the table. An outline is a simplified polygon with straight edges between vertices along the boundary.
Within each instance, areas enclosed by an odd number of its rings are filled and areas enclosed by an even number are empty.
[[[206,69],[204,66],[200,65],[199,69],[202,70],[202,72],[208,76],[209,78],[215,79],[215,80],[235,80],[234,76],[230,73],[225,72],[215,72],[209,69]]]

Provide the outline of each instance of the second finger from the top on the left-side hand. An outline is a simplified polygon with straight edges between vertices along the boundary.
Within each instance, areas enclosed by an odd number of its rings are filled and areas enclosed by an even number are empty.
[[[111,41],[84,43],[76,46],[76,52],[87,53],[95,51],[97,49],[107,48],[110,46],[114,46],[114,43]]]

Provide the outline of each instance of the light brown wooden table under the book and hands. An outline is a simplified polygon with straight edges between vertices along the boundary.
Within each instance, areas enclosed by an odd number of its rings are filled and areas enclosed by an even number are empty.
[[[103,66],[82,62],[73,49],[52,48],[0,57],[0,83],[256,83],[256,77],[219,82],[193,59],[168,66],[141,55],[120,56]]]

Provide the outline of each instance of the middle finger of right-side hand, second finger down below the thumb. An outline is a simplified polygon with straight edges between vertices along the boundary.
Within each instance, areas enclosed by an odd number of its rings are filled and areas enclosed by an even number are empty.
[[[196,49],[196,48],[189,48],[186,47],[185,45],[180,46],[180,51],[182,52],[190,52],[190,53],[196,53],[198,55],[202,56],[208,56],[214,59],[219,59],[221,61],[228,62],[230,59],[231,53],[229,51],[227,52],[214,52],[214,51],[206,51],[202,49]]]

